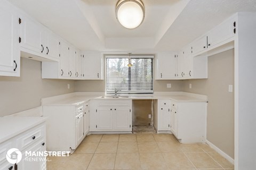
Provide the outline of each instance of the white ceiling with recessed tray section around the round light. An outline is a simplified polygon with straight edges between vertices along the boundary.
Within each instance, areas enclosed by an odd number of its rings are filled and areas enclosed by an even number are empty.
[[[130,30],[115,18],[118,0],[9,0],[81,50],[177,51],[255,0],[142,0],[145,20]]]

